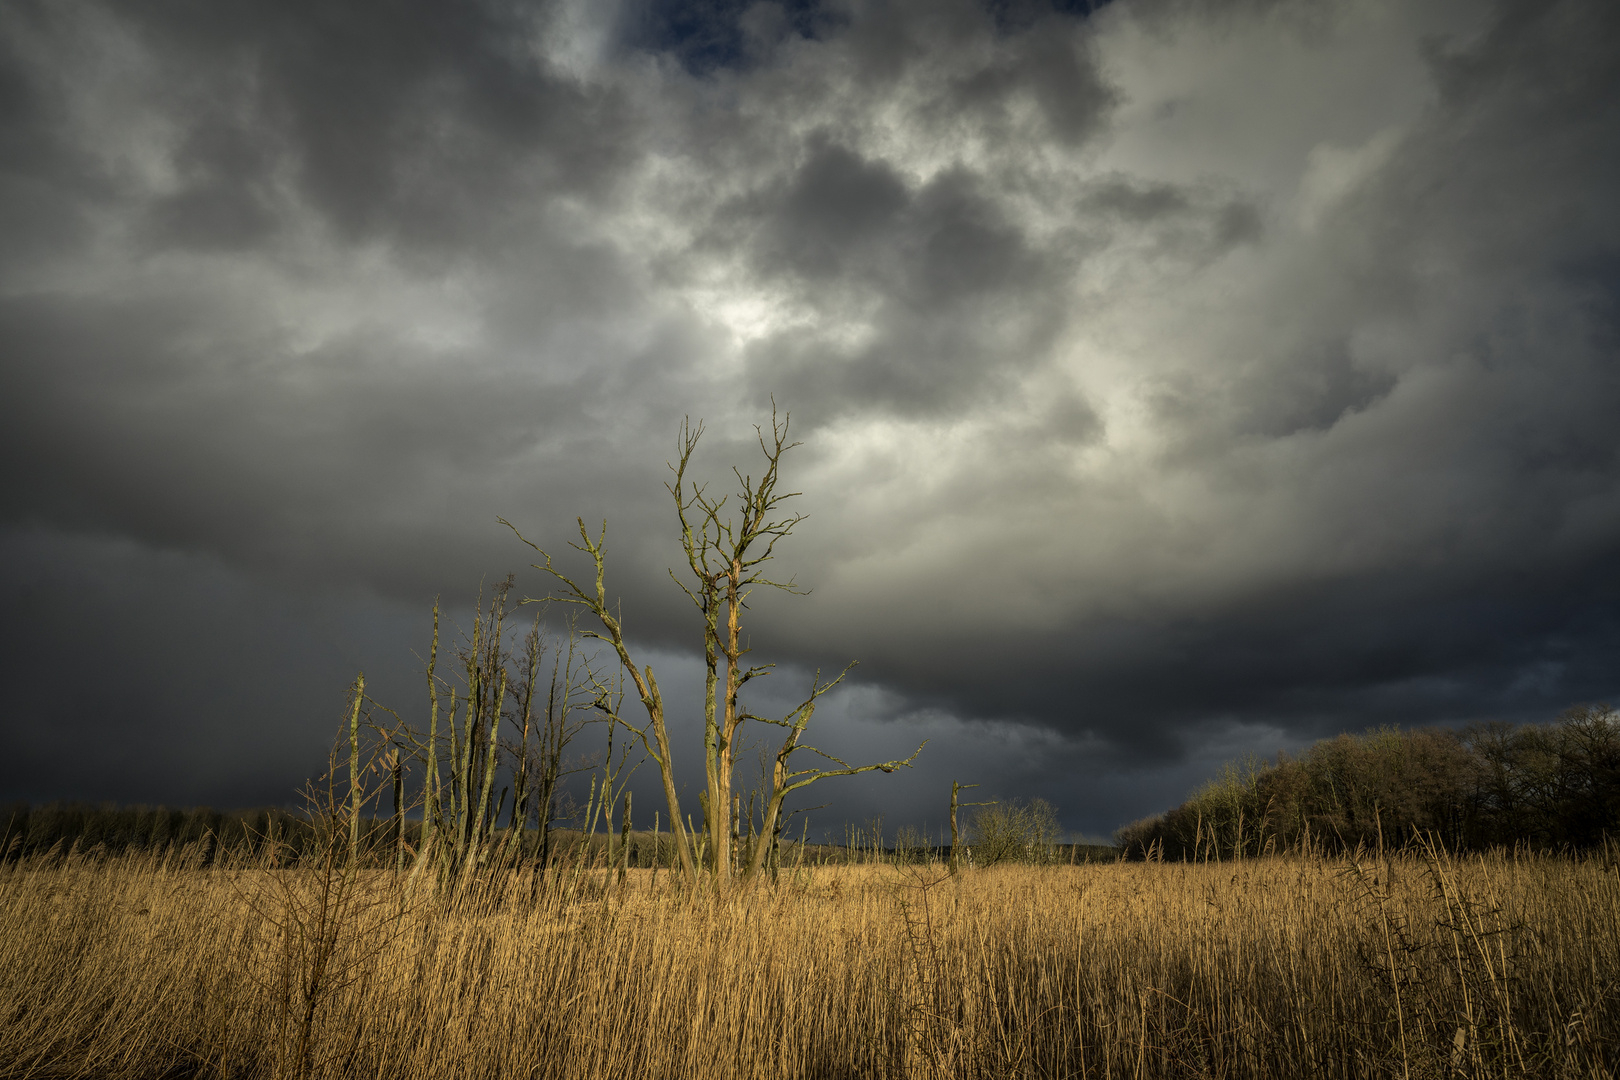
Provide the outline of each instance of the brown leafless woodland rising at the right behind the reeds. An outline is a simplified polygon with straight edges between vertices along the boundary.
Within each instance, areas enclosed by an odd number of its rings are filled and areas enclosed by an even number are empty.
[[[1576,850],[1620,836],[1620,712],[1552,724],[1340,735],[1275,763],[1228,764],[1174,810],[1115,836],[1129,858],[1233,858],[1401,845]]]

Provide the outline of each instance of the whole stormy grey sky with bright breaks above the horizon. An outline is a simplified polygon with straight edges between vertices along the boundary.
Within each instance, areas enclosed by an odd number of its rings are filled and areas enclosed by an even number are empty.
[[[773,395],[821,824],[1612,699],[1615,191],[1604,0],[0,0],[0,798],[287,801],[497,515],[690,733]]]

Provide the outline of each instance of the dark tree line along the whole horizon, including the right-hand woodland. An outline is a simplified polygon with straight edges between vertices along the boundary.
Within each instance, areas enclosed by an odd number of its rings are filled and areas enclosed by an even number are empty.
[[[1013,808],[1017,803],[1011,805]],[[1040,800],[1035,808],[1043,808]],[[1045,808],[1050,814],[1050,808]],[[1221,776],[1184,803],[1119,829],[1113,847],[1063,844],[1056,823],[1017,829],[1021,850],[996,831],[1009,808],[987,810],[972,823],[975,861],[1071,863],[1110,858],[1252,858],[1314,850],[1405,847],[1434,837],[1452,852],[1521,847],[1542,852],[1591,850],[1620,836],[1620,712],[1578,706],[1550,724],[1477,724],[1460,730],[1377,729],[1317,742],[1275,761],[1228,764]],[[980,819],[982,818],[982,819]],[[402,823],[405,840],[420,844],[421,823]],[[364,818],[364,847],[389,837],[397,823]],[[504,834],[505,829],[497,832]],[[559,829],[556,860],[606,861],[608,837]],[[669,866],[669,837],[637,829],[629,866]],[[1029,844],[1038,847],[1038,857]],[[523,848],[538,850],[528,829]],[[744,840],[747,842],[747,840]],[[117,806],[57,801],[0,806],[0,858],[79,853],[156,852],[193,845],[209,863],[215,855],[256,853],[275,844],[298,861],[319,850],[318,826],[305,813],[282,808],[215,811],[211,808]],[[549,845],[548,845],[549,847]],[[850,827],[839,844],[787,842],[789,861],[893,863],[944,861],[948,845],[925,844],[914,831],[885,837],[881,826]],[[800,850],[802,848],[802,850]]]

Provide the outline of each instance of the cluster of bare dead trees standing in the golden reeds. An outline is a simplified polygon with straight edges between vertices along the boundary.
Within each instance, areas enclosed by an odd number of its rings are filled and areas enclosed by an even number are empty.
[[[771,669],[748,661],[748,597],[761,588],[797,593],[791,578],[768,573],[778,544],[804,520],[784,505],[799,494],[781,486],[782,457],[797,445],[789,442],[787,427],[787,418],[773,411],[771,434],[755,429],[763,470],[758,478],[732,470],[737,489],[729,495],[714,497],[692,481],[701,424],[682,424],[677,460],[669,465],[672,479],[666,486],[687,563],[671,576],[701,625],[706,667],[703,743],[693,748],[701,767],[701,821],[684,813],[679,800],[677,777],[684,774],[677,759],[688,761],[690,751],[671,743],[658,677],[632,656],[608,588],[606,525],[593,534],[578,521],[578,542],[570,547],[585,559],[580,575],[502,518],[535,551],[535,568],[556,588],[543,597],[514,601],[509,578],[480,597],[471,628],[447,649],[441,649],[434,607],[426,724],[407,722],[376,703],[364,691],[364,678],[356,678],[347,746],[334,755],[324,785],[308,792],[313,805],[348,823],[352,857],[364,848],[376,858],[376,844],[361,842],[361,821],[389,806],[395,831],[390,858],[400,868],[431,865],[457,873],[491,860],[549,865],[564,780],[580,767],[569,748],[586,724],[606,725],[608,750],[590,763],[590,795],[570,816],[583,819],[588,836],[606,824],[609,865],[624,865],[629,855],[629,780],[638,764],[651,761],[664,795],[664,805],[653,811],[658,847],[667,845],[669,861],[685,879],[697,882],[708,874],[721,889],[734,876],[774,868],[789,816],[784,803],[794,792],[834,776],[910,766],[922,746],[909,758],[852,764],[805,742],[816,703],[842,682],[847,667],[831,678],[818,672],[787,716],[758,716],[744,704],[744,688]],[[573,617],[567,631],[552,640],[536,614],[522,646],[512,648],[509,623],[518,606],[531,602],[564,606]],[[748,727],[778,729],[779,743],[744,826],[742,792],[734,789]],[[408,818],[418,810],[421,827],[413,831]],[[642,824],[645,829],[645,813]],[[622,837],[617,850],[616,826]]]

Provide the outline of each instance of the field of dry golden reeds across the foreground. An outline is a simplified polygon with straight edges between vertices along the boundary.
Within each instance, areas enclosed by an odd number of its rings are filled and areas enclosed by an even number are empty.
[[[0,870],[5,1077],[1610,1077],[1620,876],[1409,853],[669,874]]]

